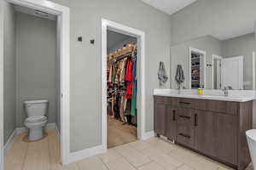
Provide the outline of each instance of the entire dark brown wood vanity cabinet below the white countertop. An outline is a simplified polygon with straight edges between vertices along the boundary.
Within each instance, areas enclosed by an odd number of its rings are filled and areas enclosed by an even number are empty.
[[[239,170],[251,161],[245,132],[252,114],[252,101],[154,96],[155,133]]]

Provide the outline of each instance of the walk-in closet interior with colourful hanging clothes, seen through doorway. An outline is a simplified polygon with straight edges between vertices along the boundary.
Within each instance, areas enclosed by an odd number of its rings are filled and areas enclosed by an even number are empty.
[[[108,148],[137,140],[137,38],[108,31]]]

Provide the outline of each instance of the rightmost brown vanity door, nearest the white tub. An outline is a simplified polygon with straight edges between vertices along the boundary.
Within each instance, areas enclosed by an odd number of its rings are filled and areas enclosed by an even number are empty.
[[[237,164],[238,116],[216,114],[215,150],[220,160]]]

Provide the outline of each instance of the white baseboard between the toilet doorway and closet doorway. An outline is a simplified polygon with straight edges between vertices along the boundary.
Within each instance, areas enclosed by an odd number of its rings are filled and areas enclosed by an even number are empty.
[[[105,153],[107,152],[106,149],[104,149],[104,146],[103,145],[98,145],[96,147],[93,147],[93,148],[89,148],[89,149],[86,149],[86,150],[79,150],[79,151],[76,151],[76,152],[72,152],[69,154],[69,158],[67,159],[67,164],[68,163],[72,163],[72,162],[75,162],[75,161],[79,161],[79,160],[83,160],[87,157],[90,157],[90,156],[96,156],[98,154],[102,154],[102,153]]]

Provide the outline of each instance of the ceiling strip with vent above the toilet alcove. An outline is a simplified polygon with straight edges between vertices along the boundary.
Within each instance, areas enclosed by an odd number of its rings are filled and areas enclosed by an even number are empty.
[[[44,19],[48,19],[48,20],[56,20],[56,16],[54,14],[44,13],[37,9],[26,8],[26,7],[23,7],[20,5],[16,5],[16,4],[14,5],[14,7],[15,7],[15,11],[20,12],[20,13],[32,14],[34,16],[38,16],[40,18],[44,18]]]

